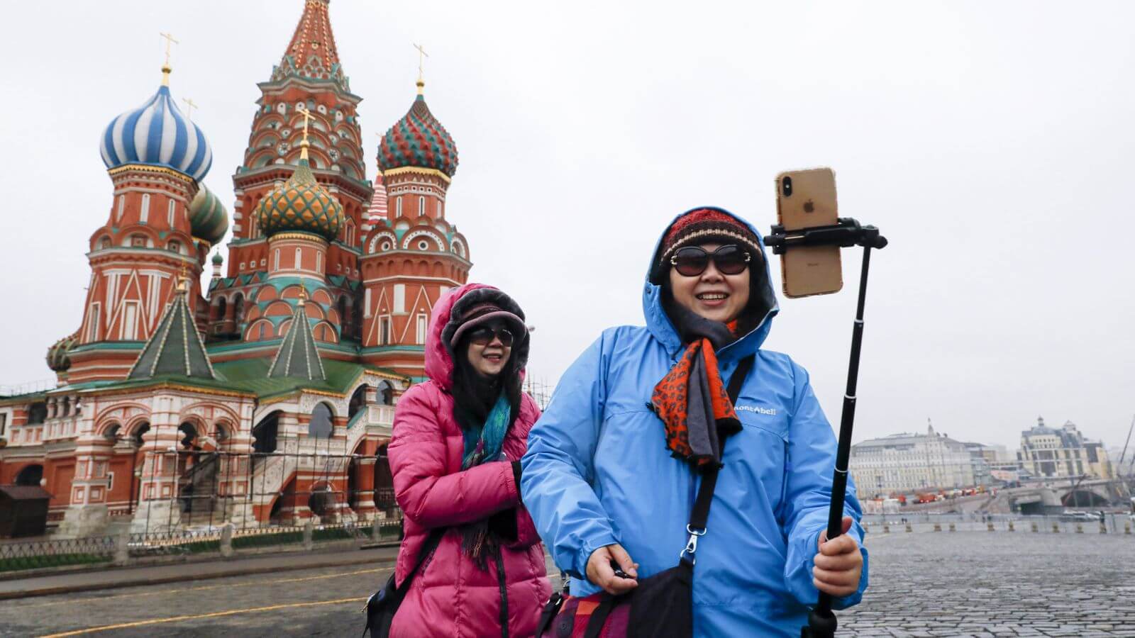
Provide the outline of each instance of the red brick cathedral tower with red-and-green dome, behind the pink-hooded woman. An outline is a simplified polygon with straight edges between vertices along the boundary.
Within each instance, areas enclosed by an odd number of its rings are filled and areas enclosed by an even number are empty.
[[[422,378],[426,329],[438,297],[469,278],[469,244],[446,220],[457,170],[453,138],[418,98],[378,145],[386,217],[371,218],[361,259],[362,346],[368,363]]]

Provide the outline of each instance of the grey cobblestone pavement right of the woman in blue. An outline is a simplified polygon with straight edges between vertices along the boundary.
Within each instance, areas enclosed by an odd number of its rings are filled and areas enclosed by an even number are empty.
[[[872,534],[839,636],[1135,637],[1135,536]]]

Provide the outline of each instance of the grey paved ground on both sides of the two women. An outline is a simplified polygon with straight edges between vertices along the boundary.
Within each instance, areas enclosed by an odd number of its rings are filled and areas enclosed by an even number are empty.
[[[840,637],[1135,638],[1135,536],[872,534]],[[0,602],[0,636],[359,636],[385,564]],[[554,570],[554,568],[552,568]],[[556,573],[552,571],[552,573]],[[92,631],[93,630],[93,631]]]

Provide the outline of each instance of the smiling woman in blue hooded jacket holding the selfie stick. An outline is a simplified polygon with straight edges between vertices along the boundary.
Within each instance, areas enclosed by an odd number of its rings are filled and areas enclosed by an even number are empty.
[[[521,461],[523,503],[571,594],[622,594],[674,566],[695,468],[718,463],[695,635],[798,636],[818,589],[835,608],[858,603],[867,551],[850,481],[847,534],[824,538],[835,437],[804,368],[760,349],[777,307],[759,234],[716,208],[679,216],[651,257],[642,310],[646,327],[604,330],[572,364]],[[733,405],[723,388],[748,355]],[[715,420],[740,425],[723,443]]]

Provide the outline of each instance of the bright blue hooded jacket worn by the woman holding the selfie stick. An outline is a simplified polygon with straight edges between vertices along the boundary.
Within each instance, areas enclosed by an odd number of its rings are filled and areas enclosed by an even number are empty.
[[[767,299],[775,300],[762,261]],[[599,590],[585,577],[596,548],[621,544],[644,578],[674,566],[689,536],[698,479],[670,455],[664,426],[649,408],[655,384],[683,349],[662,288],[649,280],[642,307],[646,327],[605,330],[564,373],[521,462],[524,505],[556,564],[572,574],[577,596]],[[806,605],[818,596],[812,568],[827,527],[835,436],[804,368],[760,349],[775,313],[771,301],[756,328],[717,351],[726,383],[746,355],[755,353],[756,361],[734,405],[742,429],[725,445],[697,546],[696,636],[799,636]],[[844,513],[856,520],[849,534],[861,546],[851,481]],[[859,589],[836,598],[835,608],[863,597],[861,552]]]

